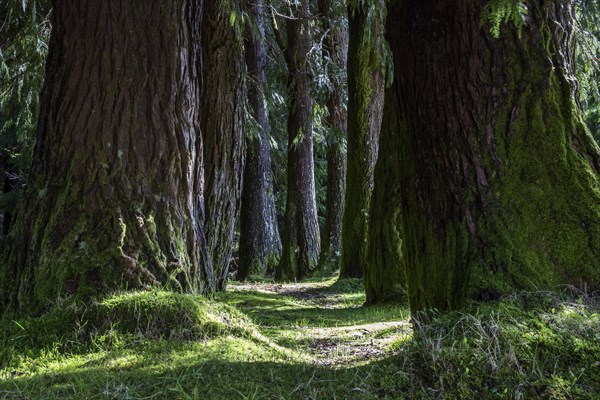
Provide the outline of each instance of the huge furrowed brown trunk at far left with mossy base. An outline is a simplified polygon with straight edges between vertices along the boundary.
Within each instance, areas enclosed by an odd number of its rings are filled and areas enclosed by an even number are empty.
[[[167,286],[210,292],[200,1],[54,2],[29,188],[2,306]]]

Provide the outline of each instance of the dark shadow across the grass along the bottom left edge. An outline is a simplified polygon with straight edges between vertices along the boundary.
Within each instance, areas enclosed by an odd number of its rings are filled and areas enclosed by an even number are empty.
[[[399,398],[408,383],[390,362],[326,368],[192,358],[177,366],[140,360],[106,368],[105,361],[0,382],[0,398],[382,399]],[[388,381],[392,374],[394,382]]]

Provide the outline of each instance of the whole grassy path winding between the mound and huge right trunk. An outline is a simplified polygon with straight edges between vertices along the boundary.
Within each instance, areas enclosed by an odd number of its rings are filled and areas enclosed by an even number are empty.
[[[221,301],[250,315],[278,345],[309,354],[317,365],[357,366],[391,356],[410,338],[404,307],[362,308],[359,281],[237,284]]]

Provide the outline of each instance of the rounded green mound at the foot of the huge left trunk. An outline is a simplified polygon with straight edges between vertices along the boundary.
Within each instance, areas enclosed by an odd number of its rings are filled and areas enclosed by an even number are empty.
[[[256,327],[234,307],[160,290],[115,293],[87,303],[64,300],[39,317],[6,317],[3,338],[12,337],[13,344],[32,350],[52,343],[87,346],[98,338],[128,335],[184,341],[256,335]]]

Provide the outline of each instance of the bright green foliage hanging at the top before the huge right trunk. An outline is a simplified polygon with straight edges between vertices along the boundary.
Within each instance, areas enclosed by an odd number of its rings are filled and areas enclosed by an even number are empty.
[[[495,38],[500,37],[500,27],[503,23],[512,23],[521,36],[526,16],[527,6],[523,1],[490,0],[481,11],[479,23],[482,27],[489,25],[490,33]]]

